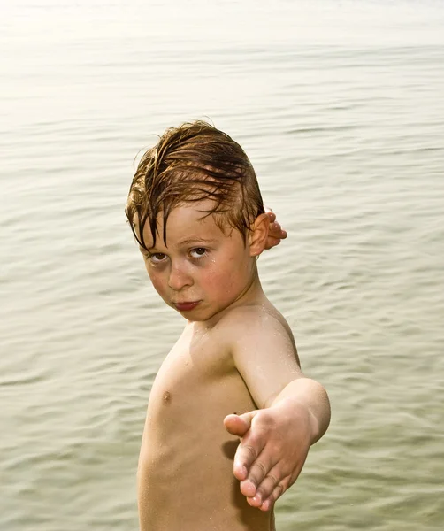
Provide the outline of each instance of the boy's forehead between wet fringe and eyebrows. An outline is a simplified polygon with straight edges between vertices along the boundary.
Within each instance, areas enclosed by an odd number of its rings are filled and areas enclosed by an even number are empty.
[[[166,220],[166,245],[180,246],[184,242],[218,241],[229,238],[231,230],[224,231],[214,214],[208,214],[213,203],[199,201],[180,204],[172,209]],[[165,246],[164,242],[164,212],[157,216],[156,248]],[[153,245],[153,237],[149,222],[143,227],[143,238],[148,249]]]

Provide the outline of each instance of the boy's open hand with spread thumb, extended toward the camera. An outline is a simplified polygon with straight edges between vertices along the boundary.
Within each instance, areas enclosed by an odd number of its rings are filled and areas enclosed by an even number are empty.
[[[310,413],[293,401],[282,401],[267,409],[228,415],[224,424],[241,437],[233,464],[241,493],[249,505],[271,510],[301,473],[310,449]]]

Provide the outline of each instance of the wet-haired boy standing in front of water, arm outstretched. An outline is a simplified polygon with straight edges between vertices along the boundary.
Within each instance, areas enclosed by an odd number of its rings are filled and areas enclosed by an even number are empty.
[[[256,174],[228,135],[184,124],[143,156],[126,215],[154,288],[188,320],[149,396],[141,529],[271,531],[330,408],[261,288]]]

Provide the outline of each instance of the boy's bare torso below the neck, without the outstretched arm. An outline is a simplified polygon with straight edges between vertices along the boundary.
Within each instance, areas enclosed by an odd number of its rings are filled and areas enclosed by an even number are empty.
[[[138,471],[142,531],[270,531],[272,514],[241,495],[233,476],[239,439],[223,424],[254,409],[223,326],[189,323],[149,398]]]

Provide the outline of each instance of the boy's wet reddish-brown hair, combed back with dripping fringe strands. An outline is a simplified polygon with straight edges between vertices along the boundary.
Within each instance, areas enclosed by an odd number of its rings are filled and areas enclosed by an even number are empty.
[[[256,173],[241,146],[204,121],[167,129],[157,144],[145,152],[134,174],[126,204],[126,217],[134,237],[147,249],[143,229],[149,223],[153,246],[157,219],[166,221],[182,204],[211,199],[203,217],[214,215],[218,227],[232,227],[246,235],[264,213]]]

